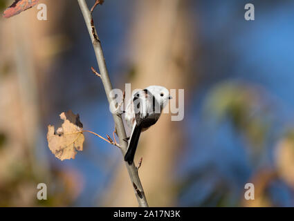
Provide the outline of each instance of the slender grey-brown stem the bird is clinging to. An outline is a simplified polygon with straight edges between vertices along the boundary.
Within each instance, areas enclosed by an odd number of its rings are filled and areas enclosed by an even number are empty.
[[[107,66],[105,64],[105,59],[102,52],[100,40],[98,38],[97,32],[95,30],[95,26],[92,21],[91,12],[85,0],[77,0],[77,2],[80,5],[80,9],[82,10],[82,15],[84,16],[84,21],[86,22],[86,26],[89,30],[89,35],[91,37],[96,59],[98,61],[98,66],[99,66],[100,75],[101,75],[100,77],[102,80],[102,84],[104,86],[105,93],[107,95],[109,105],[114,104],[112,102],[114,98],[110,96],[110,92],[112,90],[111,81],[109,79]],[[125,138],[127,137],[127,135],[125,132],[125,127],[122,122],[122,117],[120,115],[116,115],[116,113],[112,113],[112,115],[113,115],[113,120],[116,124],[116,131],[120,139],[120,146],[121,146],[120,149],[122,151],[122,155],[124,156],[127,151],[127,142],[125,142]],[[147,200],[145,198],[145,193],[143,190],[143,186],[140,182],[140,178],[138,176],[138,170],[136,169],[136,166],[134,165],[134,163],[129,165],[127,164],[127,162],[125,162],[125,164],[127,166],[127,171],[129,173],[131,183],[134,186],[134,191],[136,193],[136,198],[138,200],[139,206],[147,207],[148,206]]]

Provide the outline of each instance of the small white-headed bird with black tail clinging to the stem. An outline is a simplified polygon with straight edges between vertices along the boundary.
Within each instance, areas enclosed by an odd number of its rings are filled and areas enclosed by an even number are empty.
[[[129,100],[125,110],[125,120],[129,128],[132,129],[125,154],[125,161],[129,165],[134,162],[141,132],[156,124],[169,99],[172,97],[167,88],[149,86],[144,90],[138,90]]]

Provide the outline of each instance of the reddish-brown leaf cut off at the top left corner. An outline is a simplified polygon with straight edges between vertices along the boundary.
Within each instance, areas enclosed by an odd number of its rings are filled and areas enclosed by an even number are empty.
[[[39,0],[15,0],[15,2],[3,12],[3,17],[8,19],[19,14],[20,12],[24,12],[25,10],[37,5],[38,1]]]

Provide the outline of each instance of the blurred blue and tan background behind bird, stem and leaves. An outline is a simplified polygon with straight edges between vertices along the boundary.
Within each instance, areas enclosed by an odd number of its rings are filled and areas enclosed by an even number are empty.
[[[103,136],[114,124],[77,1],[40,3],[48,21],[0,18],[0,206],[137,206],[117,148],[86,134],[61,162],[47,146],[63,111]],[[140,138],[150,206],[294,206],[293,1],[106,0],[94,19],[114,88],[185,89],[183,121]]]

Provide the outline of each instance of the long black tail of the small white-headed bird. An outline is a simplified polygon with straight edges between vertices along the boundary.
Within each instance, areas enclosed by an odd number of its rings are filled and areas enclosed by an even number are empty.
[[[141,131],[142,131],[142,126],[137,126],[135,123],[133,131],[131,132],[131,137],[129,139],[127,153],[125,155],[125,161],[127,161],[129,165],[131,165],[134,161],[134,156],[136,153],[136,148],[138,146],[138,141],[140,138]]]

